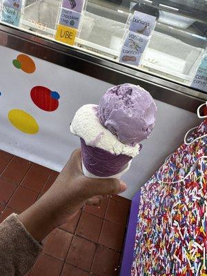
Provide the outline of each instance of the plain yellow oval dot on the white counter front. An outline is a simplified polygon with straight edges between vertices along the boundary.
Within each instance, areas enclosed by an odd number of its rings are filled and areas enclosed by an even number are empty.
[[[8,119],[15,128],[24,133],[36,134],[39,131],[39,126],[34,117],[23,110],[10,110],[8,112]]]

